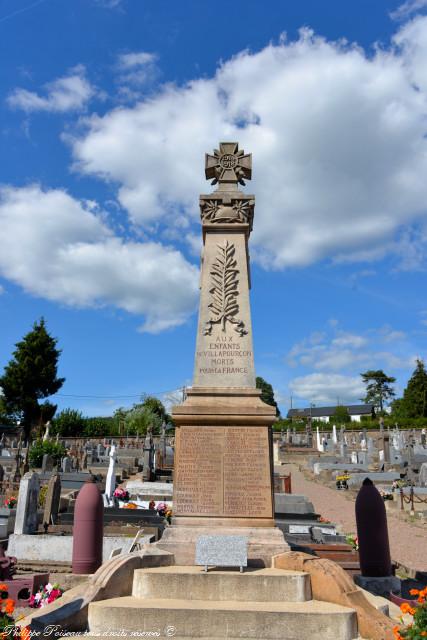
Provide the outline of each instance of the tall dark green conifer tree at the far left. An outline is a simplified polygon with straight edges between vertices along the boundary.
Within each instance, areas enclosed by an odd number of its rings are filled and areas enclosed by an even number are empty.
[[[6,411],[20,416],[26,439],[43,419],[39,400],[55,394],[64,384],[65,378],[57,377],[61,351],[56,344],[41,318],[15,345],[13,358],[0,378]]]

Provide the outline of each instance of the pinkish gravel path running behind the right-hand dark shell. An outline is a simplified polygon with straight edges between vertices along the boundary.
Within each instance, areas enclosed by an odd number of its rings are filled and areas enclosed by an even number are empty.
[[[354,500],[346,498],[344,492],[306,480],[295,464],[290,464],[289,470],[292,473],[292,493],[307,496],[316,513],[340,524],[345,533],[356,532]],[[387,517],[392,559],[411,569],[427,571],[427,526],[423,529],[402,522],[389,513]]]

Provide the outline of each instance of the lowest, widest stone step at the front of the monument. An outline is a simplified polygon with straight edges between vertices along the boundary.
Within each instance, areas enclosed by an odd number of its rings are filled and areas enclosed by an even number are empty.
[[[143,600],[134,596],[89,605],[89,634],[102,637],[133,631],[180,638],[264,638],[265,640],[354,640],[356,614],[335,604]],[[142,634],[144,635],[144,634]]]

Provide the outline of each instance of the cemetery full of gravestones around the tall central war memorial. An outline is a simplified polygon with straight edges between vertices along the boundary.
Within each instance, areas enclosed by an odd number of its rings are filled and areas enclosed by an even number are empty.
[[[55,439],[48,421],[56,453],[37,459],[40,439],[2,435],[0,590],[23,616],[15,635],[391,640],[409,586],[427,584],[425,430],[322,429],[296,411],[302,429],[273,431],[255,384],[255,196],[239,188],[251,155],[221,142],[205,176],[217,188],[199,200],[194,377],[173,435],[163,423],[141,440]],[[293,491],[290,465],[351,502],[357,543]],[[395,514],[424,527],[406,578],[390,552]]]

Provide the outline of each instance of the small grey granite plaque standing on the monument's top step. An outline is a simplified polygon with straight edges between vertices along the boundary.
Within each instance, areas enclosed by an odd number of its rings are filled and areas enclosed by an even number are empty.
[[[207,571],[214,567],[248,566],[248,543],[245,536],[200,536],[196,541],[196,564]]]

